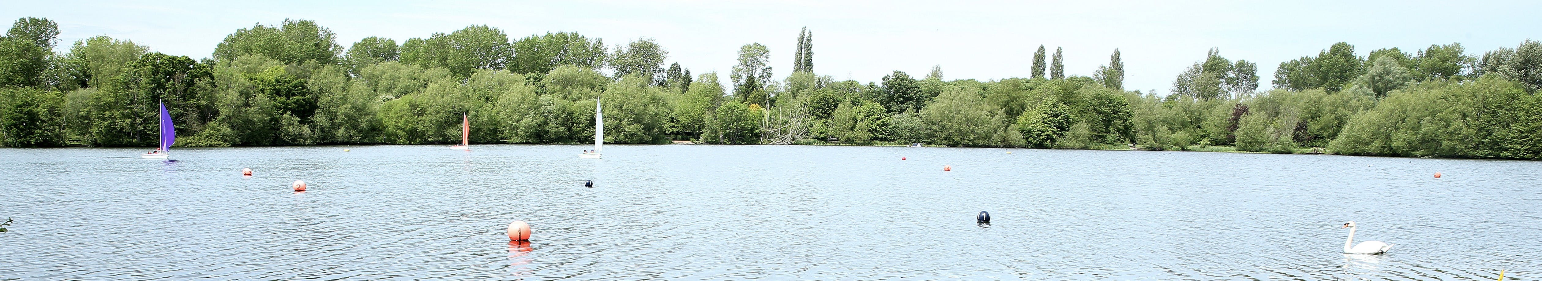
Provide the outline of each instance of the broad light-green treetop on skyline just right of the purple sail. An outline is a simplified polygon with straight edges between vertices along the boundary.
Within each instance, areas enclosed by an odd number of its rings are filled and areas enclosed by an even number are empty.
[[[342,52],[336,37],[332,29],[321,28],[316,21],[285,18],[279,28],[254,25],[225,35],[225,40],[214,48],[214,58],[230,61],[256,54],[284,63],[330,64]]]

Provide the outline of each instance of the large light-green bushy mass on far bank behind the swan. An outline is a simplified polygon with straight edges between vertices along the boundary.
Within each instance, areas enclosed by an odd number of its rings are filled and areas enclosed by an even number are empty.
[[[1542,158],[1542,101],[1516,81],[1425,83],[1349,120],[1335,154]]]

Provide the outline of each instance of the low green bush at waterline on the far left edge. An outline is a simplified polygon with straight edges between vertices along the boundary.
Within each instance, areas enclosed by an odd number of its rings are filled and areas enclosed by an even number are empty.
[[[35,88],[0,88],[0,146],[62,146],[62,92]]]

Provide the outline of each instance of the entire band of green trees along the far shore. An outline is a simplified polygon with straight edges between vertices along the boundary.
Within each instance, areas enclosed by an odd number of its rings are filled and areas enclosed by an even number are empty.
[[[156,104],[179,146],[581,143],[594,103],[608,143],[884,144],[1325,152],[1542,158],[1542,45],[1468,55],[1457,45],[1359,57],[1337,43],[1258,66],[1210,49],[1167,95],[1126,91],[1115,49],[1092,75],[1067,75],[1062,52],[1033,52],[1030,77],[945,80],[894,71],[879,81],[814,71],[799,32],[793,71],[749,43],[720,84],[692,75],[651,38],[608,46],[575,32],[510,37],[475,25],[348,48],[310,20],[254,25],[208,58],[148,52],[91,37],[56,52],[59,28],[19,18],[0,37],[0,146],[153,146]]]

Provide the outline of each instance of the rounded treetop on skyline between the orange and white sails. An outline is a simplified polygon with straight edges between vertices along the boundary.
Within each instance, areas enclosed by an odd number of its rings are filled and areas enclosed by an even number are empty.
[[[513,61],[509,63],[509,71],[546,74],[557,66],[580,66],[594,71],[604,64],[604,40],[591,40],[578,32],[546,32],[513,43]],[[663,60],[660,58],[660,61]]]

